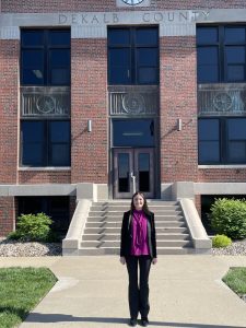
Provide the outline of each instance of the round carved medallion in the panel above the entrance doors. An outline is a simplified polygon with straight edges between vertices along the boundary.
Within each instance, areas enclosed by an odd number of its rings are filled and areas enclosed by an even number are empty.
[[[145,102],[141,94],[127,93],[122,98],[122,107],[128,114],[144,112]]]

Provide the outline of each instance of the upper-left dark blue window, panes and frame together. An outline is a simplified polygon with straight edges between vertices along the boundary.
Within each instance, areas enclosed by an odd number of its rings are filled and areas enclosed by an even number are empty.
[[[21,84],[70,85],[70,31],[22,30]]]

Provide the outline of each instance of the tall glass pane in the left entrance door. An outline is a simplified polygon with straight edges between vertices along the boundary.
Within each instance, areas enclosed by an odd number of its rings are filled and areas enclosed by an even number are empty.
[[[129,192],[129,154],[118,154],[118,192]]]

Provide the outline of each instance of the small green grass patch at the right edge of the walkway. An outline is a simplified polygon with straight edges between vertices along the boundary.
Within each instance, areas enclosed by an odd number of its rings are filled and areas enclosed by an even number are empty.
[[[237,295],[246,295],[246,268],[231,268],[222,280]]]

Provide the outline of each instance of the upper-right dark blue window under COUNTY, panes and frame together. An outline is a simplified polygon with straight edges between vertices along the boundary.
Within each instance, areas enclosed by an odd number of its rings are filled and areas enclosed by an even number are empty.
[[[197,27],[198,83],[246,81],[246,26]]]

